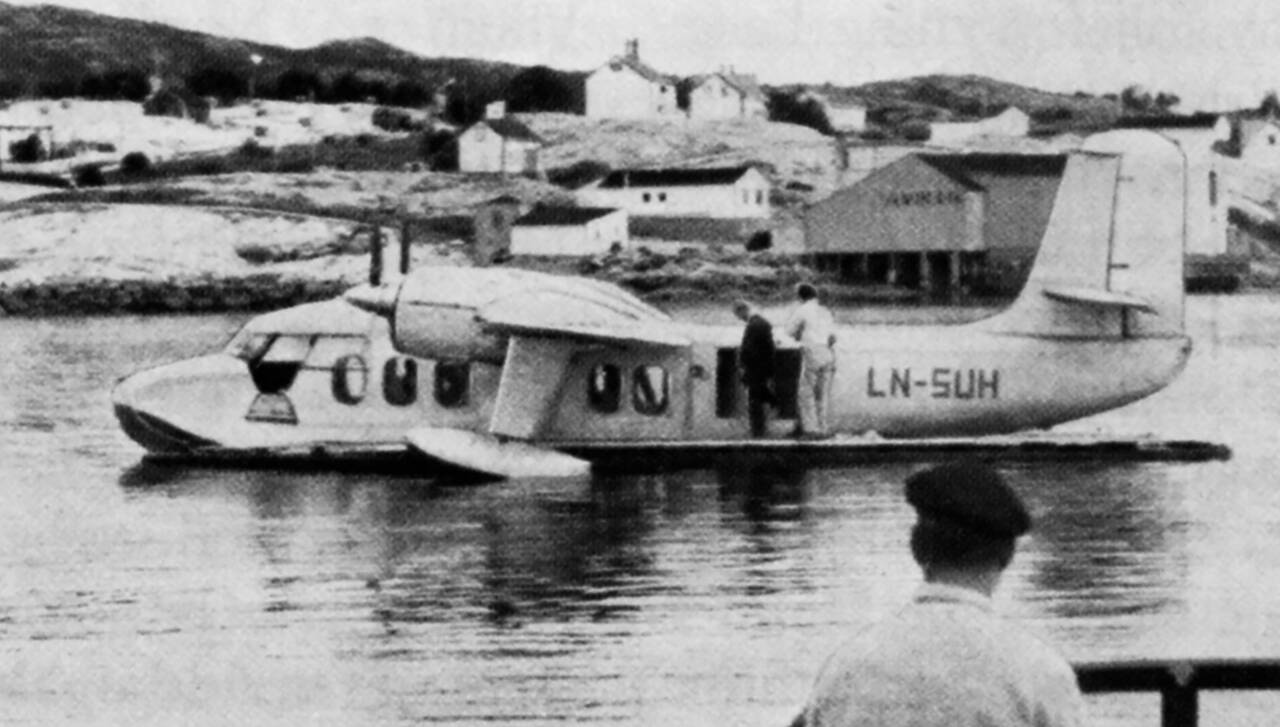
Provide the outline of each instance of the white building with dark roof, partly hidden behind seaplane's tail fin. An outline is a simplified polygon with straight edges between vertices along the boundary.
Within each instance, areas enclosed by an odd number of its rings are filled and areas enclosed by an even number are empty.
[[[1187,252],[1225,255],[1228,252],[1228,200],[1224,189],[1226,159],[1217,154],[1219,142],[1230,140],[1231,122],[1219,114],[1126,116],[1116,128],[1151,129],[1167,137],[1187,155]]]

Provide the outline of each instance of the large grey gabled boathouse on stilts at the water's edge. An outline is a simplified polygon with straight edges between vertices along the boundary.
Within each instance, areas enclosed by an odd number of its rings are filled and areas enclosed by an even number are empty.
[[[1039,248],[1066,156],[913,154],[805,210],[805,251],[849,282],[1016,289]]]

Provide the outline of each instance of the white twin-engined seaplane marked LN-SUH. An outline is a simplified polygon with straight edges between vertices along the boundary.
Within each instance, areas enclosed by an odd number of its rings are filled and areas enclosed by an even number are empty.
[[[740,326],[507,268],[424,268],[259,316],[220,352],[123,379],[113,402],[157,456],[396,451],[493,477],[762,452],[808,463],[868,440],[1044,430],[1148,397],[1185,366],[1187,174],[1180,147],[1153,132],[1089,137],[1006,310],[838,330],[837,435],[824,442],[786,436],[800,355],[781,333],[778,416],[772,436],[751,439]]]

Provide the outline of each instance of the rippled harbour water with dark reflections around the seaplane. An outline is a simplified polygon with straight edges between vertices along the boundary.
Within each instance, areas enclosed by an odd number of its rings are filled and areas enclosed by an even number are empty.
[[[1037,527],[1001,605],[1074,658],[1280,655],[1280,301],[1193,303],[1184,378],[1073,427],[1220,433],[1233,461],[1009,468]],[[780,724],[918,581],[911,463],[485,485],[140,463],[111,383],[237,324],[0,321],[8,721]]]

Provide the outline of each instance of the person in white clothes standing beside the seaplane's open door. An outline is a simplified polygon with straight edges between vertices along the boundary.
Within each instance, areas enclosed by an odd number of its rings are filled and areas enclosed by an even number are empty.
[[[796,287],[800,306],[787,321],[787,335],[800,342],[800,436],[828,436],[827,403],[836,372],[836,321],[818,302],[818,289],[809,283]]]

